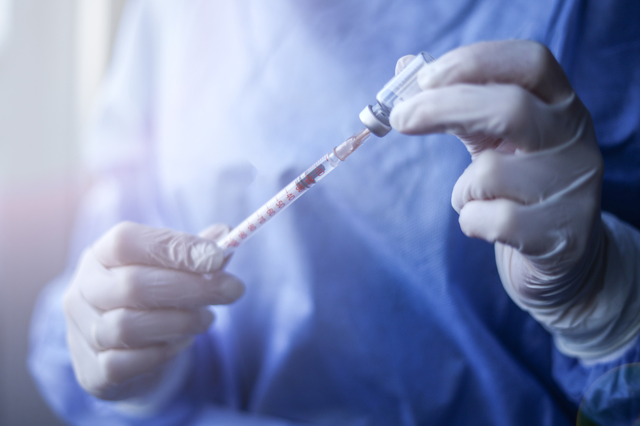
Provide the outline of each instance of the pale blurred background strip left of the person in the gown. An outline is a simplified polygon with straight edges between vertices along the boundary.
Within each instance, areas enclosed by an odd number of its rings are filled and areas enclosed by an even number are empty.
[[[79,141],[125,0],[0,0],[0,425],[61,425],[26,368],[40,289],[65,265]]]

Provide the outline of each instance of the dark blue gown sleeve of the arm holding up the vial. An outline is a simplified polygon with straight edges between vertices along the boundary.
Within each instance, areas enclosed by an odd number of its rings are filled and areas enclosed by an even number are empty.
[[[602,209],[640,229],[640,3],[596,0],[580,7],[579,37],[563,66],[593,117],[605,163]],[[580,416],[607,426],[637,424],[640,339],[625,349],[591,365],[554,349],[552,373]]]

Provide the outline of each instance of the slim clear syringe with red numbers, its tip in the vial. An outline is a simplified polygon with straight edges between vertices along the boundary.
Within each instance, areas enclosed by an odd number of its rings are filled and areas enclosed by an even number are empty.
[[[353,151],[358,149],[358,147],[362,145],[362,142],[369,138],[370,134],[369,129],[364,128],[342,142],[339,146],[333,148],[333,152],[327,153],[320,158],[316,164],[309,167],[307,171],[294,179],[289,185],[285,186],[275,197],[257,209],[253,215],[232,229],[223,240],[218,241],[218,246],[225,250],[225,256],[234,252],[244,241],[258,232],[264,224],[290,206],[292,202],[300,198],[300,195],[307,192],[309,188],[316,185],[321,179],[324,179],[324,176],[338,167],[340,162],[346,160]]]

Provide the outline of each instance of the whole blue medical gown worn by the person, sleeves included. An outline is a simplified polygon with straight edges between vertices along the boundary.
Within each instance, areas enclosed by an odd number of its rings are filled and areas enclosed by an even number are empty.
[[[398,57],[529,38],[595,119],[604,209],[640,226],[637,2],[133,1],[86,164],[68,273],[35,310],[29,365],[70,423],[214,421],[217,409],[331,425],[570,425],[600,374],[502,289],[492,245],[465,237],[450,135],[372,138],[237,250],[247,285],[196,339],[194,369],[152,418],[79,388],[61,294],[79,251],[120,220],[198,232],[237,224],[362,125]],[[202,420],[204,419],[204,420]],[[241,418],[225,424],[243,424]]]

